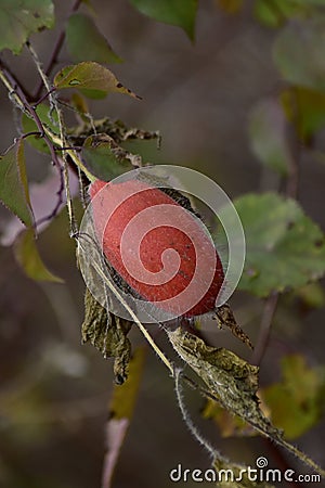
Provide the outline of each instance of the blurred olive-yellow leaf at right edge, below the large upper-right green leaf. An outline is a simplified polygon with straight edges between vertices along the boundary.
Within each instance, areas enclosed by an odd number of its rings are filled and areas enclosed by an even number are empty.
[[[281,101],[303,142],[325,126],[325,93],[292,87],[282,93]]]

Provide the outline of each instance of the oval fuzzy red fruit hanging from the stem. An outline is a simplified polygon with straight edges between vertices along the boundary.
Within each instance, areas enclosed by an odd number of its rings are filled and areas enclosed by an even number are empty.
[[[140,180],[96,180],[90,196],[106,258],[141,297],[174,316],[214,310],[222,265],[193,214]]]

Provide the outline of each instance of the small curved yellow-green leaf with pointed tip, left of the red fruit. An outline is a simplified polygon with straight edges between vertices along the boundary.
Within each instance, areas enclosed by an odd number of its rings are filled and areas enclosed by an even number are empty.
[[[54,281],[63,283],[63,280],[51,273],[43,264],[35,243],[34,230],[23,231],[15,242],[15,258],[27,277],[36,281]]]

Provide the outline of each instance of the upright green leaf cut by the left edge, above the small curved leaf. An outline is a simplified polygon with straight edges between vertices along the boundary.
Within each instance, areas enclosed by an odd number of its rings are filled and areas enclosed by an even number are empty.
[[[0,156],[0,200],[25,226],[32,226],[34,216],[28,193],[22,140],[6,154]]]

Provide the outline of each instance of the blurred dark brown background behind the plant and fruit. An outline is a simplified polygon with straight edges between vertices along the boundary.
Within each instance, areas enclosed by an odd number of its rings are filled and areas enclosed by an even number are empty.
[[[247,1],[231,15],[222,2],[200,1],[192,43],[179,28],[147,18],[127,0],[92,0],[95,22],[125,62],[112,66],[143,101],[112,94],[90,102],[96,118],[110,116],[131,127],[159,130],[162,145],[147,142],[146,160],[197,169],[231,196],[277,190],[278,177],[255,157],[248,138],[249,114],[264,99],[276,99],[284,81],[272,61],[276,29],[261,25]],[[55,2],[56,27],[31,37],[47,64],[69,2]],[[87,12],[82,5],[81,11]],[[38,77],[27,54],[6,62],[30,90]],[[65,48],[58,67],[70,62]],[[12,106],[0,87],[1,142],[4,151],[16,134]],[[322,151],[324,132],[315,146]],[[325,229],[325,166],[301,147],[299,201],[306,213]],[[28,175],[41,181],[47,157],[27,150]],[[78,203],[77,214],[81,216]],[[1,208],[1,219],[9,218]],[[64,284],[32,282],[17,267],[11,247],[0,247],[0,486],[5,488],[92,488],[101,484],[105,452],[105,423],[113,389],[112,362],[90,345],[81,346],[84,285],[76,268],[75,243],[68,237],[65,213],[40,235],[38,246],[49,268]],[[303,258],[303,257],[302,257]],[[263,303],[237,292],[232,298],[237,321],[256,339]],[[278,381],[278,357],[299,351],[312,365],[324,361],[324,308],[301,307],[292,296],[281,299],[273,334],[261,364],[261,386]],[[249,352],[203,323],[216,346],[226,346],[246,359]],[[162,334],[157,343],[172,355]],[[133,345],[144,344],[133,330]],[[277,467],[304,466],[260,437],[222,438],[212,421],[200,419],[203,399],[186,393],[186,403],[205,435],[225,455],[255,465],[259,455]],[[324,458],[325,424],[318,423],[297,439],[318,463]],[[209,467],[206,452],[192,438],[179,411],[174,386],[165,367],[147,350],[144,376],[133,420],[116,467],[116,488],[166,488],[174,485],[169,472]],[[181,486],[196,486],[186,483]],[[204,485],[204,484],[203,484]],[[302,485],[300,485],[302,486]]]

